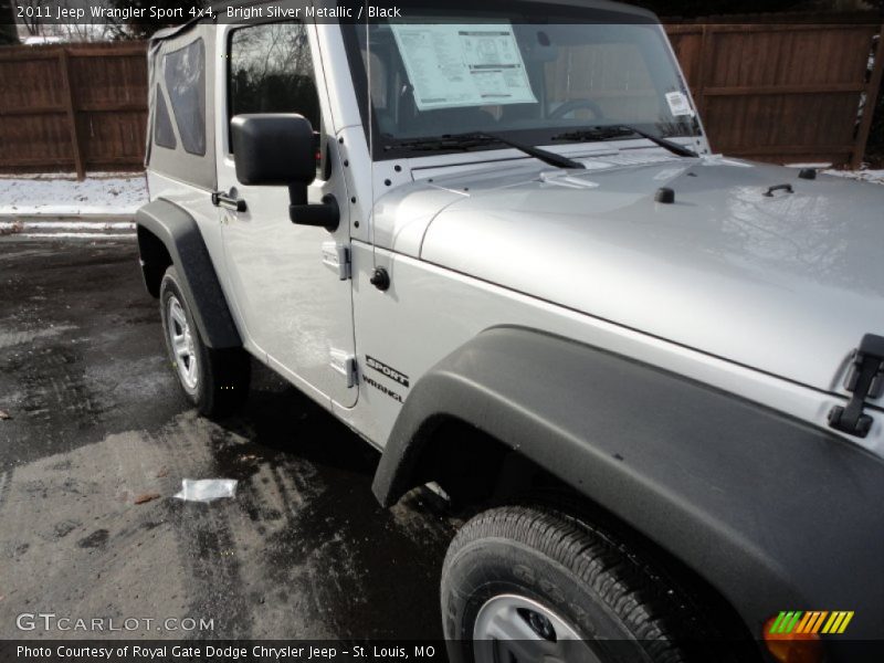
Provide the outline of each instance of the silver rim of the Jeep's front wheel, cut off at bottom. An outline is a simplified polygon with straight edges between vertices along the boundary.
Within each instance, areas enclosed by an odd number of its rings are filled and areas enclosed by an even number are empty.
[[[552,610],[525,597],[488,599],[473,627],[476,663],[600,663],[577,630]]]

